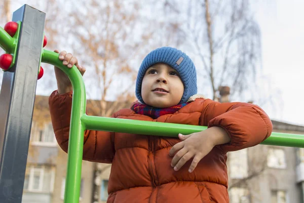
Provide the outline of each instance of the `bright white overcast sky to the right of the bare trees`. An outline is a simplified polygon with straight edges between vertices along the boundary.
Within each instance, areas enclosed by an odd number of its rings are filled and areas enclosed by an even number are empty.
[[[267,3],[265,3],[267,2]],[[280,113],[272,119],[304,125],[304,1],[268,0],[256,4],[261,29],[263,73],[282,92]]]

